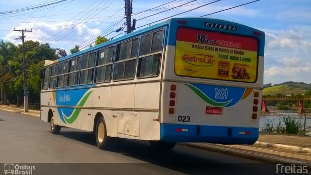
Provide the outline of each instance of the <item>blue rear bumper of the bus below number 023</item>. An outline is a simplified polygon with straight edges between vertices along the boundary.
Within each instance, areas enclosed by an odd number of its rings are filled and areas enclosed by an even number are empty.
[[[256,127],[222,127],[161,124],[161,141],[206,142],[220,144],[254,144],[259,136]]]

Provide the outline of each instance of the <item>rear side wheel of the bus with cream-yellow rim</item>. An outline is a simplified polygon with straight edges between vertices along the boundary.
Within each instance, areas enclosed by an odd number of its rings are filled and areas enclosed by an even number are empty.
[[[101,117],[97,120],[95,128],[96,144],[99,149],[111,149],[113,138],[107,136],[107,129],[104,118]]]

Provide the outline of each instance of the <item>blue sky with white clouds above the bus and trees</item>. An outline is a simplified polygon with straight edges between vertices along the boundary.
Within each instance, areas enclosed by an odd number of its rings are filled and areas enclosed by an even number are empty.
[[[199,6],[178,16],[203,16],[251,1],[220,0],[203,6],[213,0],[133,0],[132,19],[139,27]],[[43,7],[34,8],[39,5]],[[259,0],[206,17],[265,32],[264,84],[311,83],[311,0]],[[25,40],[64,48],[67,54],[75,45],[88,48],[98,35],[123,35],[115,31],[124,22],[123,0],[0,0],[0,40],[20,44],[16,38],[21,33],[14,28],[32,30]]]

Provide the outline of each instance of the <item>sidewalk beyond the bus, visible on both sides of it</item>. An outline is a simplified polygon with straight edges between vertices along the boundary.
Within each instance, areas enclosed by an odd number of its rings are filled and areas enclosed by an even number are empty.
[[[40,116],[39,110],[24,112],[23,107],[16,108],[15,105],[0,105],[0,110]],[[270,163],[307,164],[311,168],[311,136],[259,132],[259,139],[254,145],[179,144]]]

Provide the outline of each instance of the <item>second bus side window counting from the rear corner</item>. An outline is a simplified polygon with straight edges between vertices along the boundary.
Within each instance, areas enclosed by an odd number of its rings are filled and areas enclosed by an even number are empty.
[[[137,50],[138,38],[117,45],[113,80],[134,79]]]

